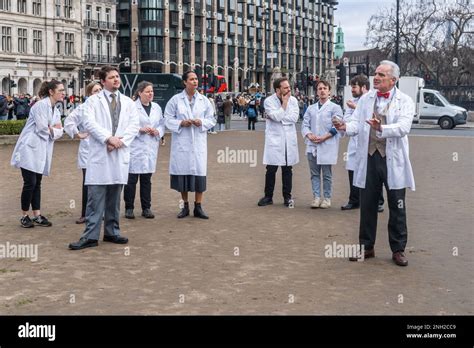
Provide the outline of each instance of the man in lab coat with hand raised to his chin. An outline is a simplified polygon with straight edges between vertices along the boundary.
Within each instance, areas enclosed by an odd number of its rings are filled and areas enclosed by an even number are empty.
[[[273,82],[275,93],[265,98],[267,115],[265,128],[265,149],[263,164],[267,165],[265,175],[265,196],[259,206],[273,204],[273,190],[278,166],[282,170],[283,200],[290,205],[292,188],[292,166],[299,162],[296,122],[299,118],[298,101],[291,95],[290,83],[286,77]]]

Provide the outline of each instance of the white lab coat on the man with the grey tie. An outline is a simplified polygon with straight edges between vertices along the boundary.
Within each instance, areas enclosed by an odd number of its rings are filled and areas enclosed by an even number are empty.
[[[106,140],[112,136],[112,119],[105,91],[90,96],[84,104],[84,128],[89,133],[86,185],[126,184],[130,165],[130,145],[139,130],[139,116],[135,102],[117,92],[121,103],[116,137],[124,146],[107,151]]]

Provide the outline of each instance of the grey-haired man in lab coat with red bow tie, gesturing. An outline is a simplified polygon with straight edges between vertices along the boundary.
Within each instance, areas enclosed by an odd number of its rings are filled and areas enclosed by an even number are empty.
[[[380,62],[375,71],[375,90],[360,98],[350,122],[335,126],[349,136],[358,134],[353,183],[361,188],[359,242],[364,245],[364,259],[375,256],[378,198],[385,185],[392,260],[398,266],[407,266],[405,190],[407,187],[415,190],[408,146],[415,105],[396,88],[399,77],[397,64],[388,60]]]

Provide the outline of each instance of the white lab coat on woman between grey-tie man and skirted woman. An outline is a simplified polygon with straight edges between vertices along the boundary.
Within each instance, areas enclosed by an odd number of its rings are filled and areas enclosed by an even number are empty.
[[[132,141],[132,145],[130,146],[130,173],[154,173],[156,171],[160,138],[165,134],[163,112],[158,104],[152,102],[150,116],[148,116],[140,99],[137,99],[135,105],[140,116],[140,128],[155,128],[160,132],[160,135],[151,136],[149,134],[139,133],[135,140]]]

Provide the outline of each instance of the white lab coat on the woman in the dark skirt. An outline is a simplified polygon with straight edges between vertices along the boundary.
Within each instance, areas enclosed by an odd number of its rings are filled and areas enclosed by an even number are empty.
[[[197,93],[193,111],[186,90],[166,104],[165,125],[172,132],[170,152],[171,175],[207,175],[207,131],[216,125],[209,99]],[[201,127],[181,127],[181,121],[200,119]]]

